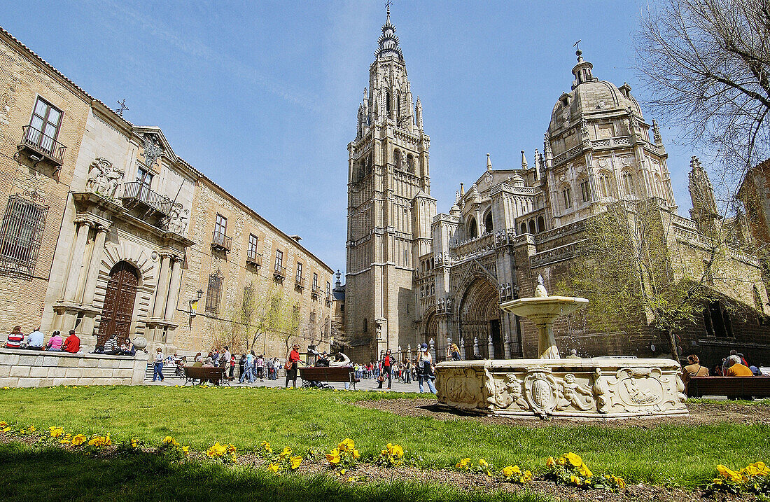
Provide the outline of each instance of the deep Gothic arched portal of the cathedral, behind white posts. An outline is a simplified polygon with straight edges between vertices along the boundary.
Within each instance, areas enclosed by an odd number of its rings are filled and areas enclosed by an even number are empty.
[[[458,324],[460,336],[465,340],[467,359],[474,356],[474,338],[478,339],[479,356],[489,358],[492,355],[488,337],[494,346],[494,358],[504,359],[499,302],[497,288],[487,279],[477,278],[465,289],[460,299]]]

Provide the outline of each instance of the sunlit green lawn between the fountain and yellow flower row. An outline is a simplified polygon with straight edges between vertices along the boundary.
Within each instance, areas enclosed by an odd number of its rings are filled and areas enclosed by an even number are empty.
[[[364,457],[400,443],[424,467],[448,467],[462,457],[484,457],[496,467],[518,464],[544,470],[544,460],[567,451],[591,470],[631,482],[695,486],[713,477],[716,464],[744,467],[770,460],[770,427],[708,426],[514,427],[475,420],[400,417],[354,405],[356,400],[403,397],[397,393],[344,393],[268,388],[54,387],[0,391],[0,420],[72,433],[111,433],[157,444],[170,435],[194,450],[215,441],[253,450],[333,447],[345,437]],[[718,410],[715,410],[718,413]]]

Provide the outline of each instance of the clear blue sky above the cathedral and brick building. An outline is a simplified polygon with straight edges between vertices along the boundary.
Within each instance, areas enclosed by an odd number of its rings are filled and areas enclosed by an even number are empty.
[[[333,269],[345,271],[347,144],[368,85],[385,5],[331,2],[0,3],[0,25]],[[574,42],[594,76],[642,102],[634,70],[642,0],[394,0],[413,98],[430,136],[431,195],[447,213],[460,182],[542,152],[569,92]],[[29,15],[35,12],[35,15]],[[651,123],[655,117],[644,113]],[[671,185],[687,215],[689,159],[661,122]]]

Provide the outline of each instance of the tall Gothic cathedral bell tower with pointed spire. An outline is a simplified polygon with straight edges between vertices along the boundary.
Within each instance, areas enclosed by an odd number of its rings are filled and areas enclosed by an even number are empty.
[[[350,356],[416,346],[413,270],[430,253],[436,199],[430,196],[420,98],[412,100],[390,6],[369,87],[348,144],[345,330]]]

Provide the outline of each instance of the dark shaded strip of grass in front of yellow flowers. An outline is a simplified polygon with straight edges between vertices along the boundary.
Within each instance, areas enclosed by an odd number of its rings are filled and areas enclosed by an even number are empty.
[[[531,494],[462,493],[397,481],[340,483],[326,475],[276,476],[249,466],[173,463],[152,453],[86,457],[59,448],[0,445],[0,500],[416,500],[544,502]]]

